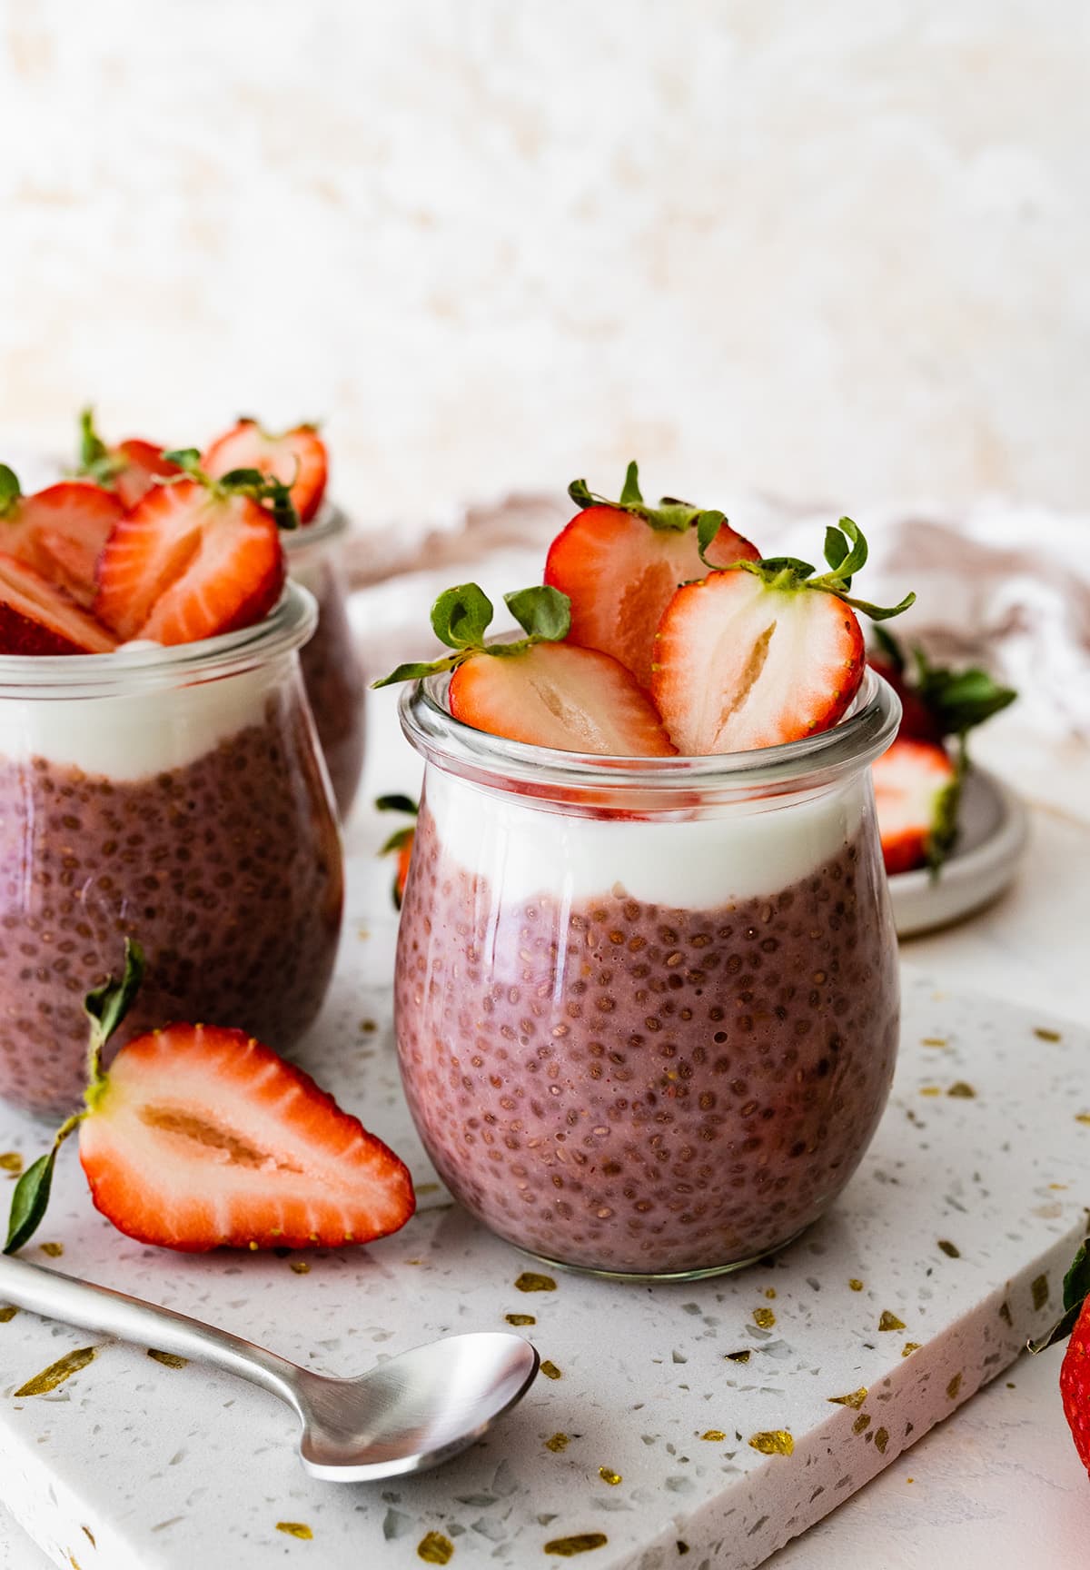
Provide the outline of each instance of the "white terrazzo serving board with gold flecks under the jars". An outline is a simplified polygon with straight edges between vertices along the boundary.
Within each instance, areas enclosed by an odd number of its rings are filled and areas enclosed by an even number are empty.
[[[578,1556],[594,1570],[749,1570],[1057,1317],[1090,1201],[1087,1031],[906,978],[894,1097],[823,1223],[774,1261],[699,1284],[545,1275],[429,1168],[397,1082],[386,874],[357,857],[349,890],[368,914],[347,923],[302,1057],[407,1157],[418,1217],[360,1251],[171,1256],[116,1234],[66,1152],[27,1256],[322,1372],[514,1324],[542,1375],[438,1471],[324,1484],[302,1471],[295,1419],[272,1396],[0,1311],[0,1499],[58,1565],[523,1570]],[[44,1143],[41,1126],[0,1112],[0,1152],[30,1162]],[[55,1389],[14,1394],[91,1345]]]

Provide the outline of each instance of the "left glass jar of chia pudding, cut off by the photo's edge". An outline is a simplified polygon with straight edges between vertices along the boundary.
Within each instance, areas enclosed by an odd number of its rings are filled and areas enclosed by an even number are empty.
[[[303,692],[313,598],[258,626],[112,655],[0,658],[0,1096],[63,1115],[83,995],[148,978],[123,1036],[236,1025],[289,1049],[317,1014],[342,857]]]

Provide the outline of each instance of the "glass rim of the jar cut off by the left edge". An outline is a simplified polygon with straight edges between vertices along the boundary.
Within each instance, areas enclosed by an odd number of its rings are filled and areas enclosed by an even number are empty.
[[[300,648],[316,626],[314,595],[289,579],[261,622],[195,644],[134,644],[108,655],[0,655],[0,700],[123,697],[212,681]]]

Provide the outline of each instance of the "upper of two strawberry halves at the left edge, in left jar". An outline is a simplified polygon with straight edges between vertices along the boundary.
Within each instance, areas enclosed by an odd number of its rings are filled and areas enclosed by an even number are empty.
[[[24,496],[13,469],[0,463],[0,551],[85,608],[94,601],[102,548],[123,517],[118,498],[86,480],[61,480]]]

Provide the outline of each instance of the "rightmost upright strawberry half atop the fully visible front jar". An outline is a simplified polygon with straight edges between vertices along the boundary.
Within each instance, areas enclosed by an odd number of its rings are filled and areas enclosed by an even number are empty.
[[[700,548],[715,523],[697,523]],[[674,593],[655,642],[652,697],[686,755],[748,752],[829,730],[864,672],[854,609],[875,619],[906,611],[914,595],[881,608],[850,595],[867,560],[851,518],[826,529],[829,571],[770,557],[710,571]]]

